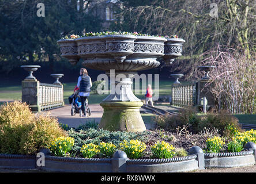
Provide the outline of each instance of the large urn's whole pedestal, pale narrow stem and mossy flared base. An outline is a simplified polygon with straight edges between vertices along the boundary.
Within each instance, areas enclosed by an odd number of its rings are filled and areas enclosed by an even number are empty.
[[[111,73],[111,93],[100,105],[104,109],[99,128],[108,131],[143,132],[146,130],[140,114],[143,102],[131,90],[134,72]],[[122,76],[122,80],[116,76]],[[113,78],[113,79],[112,79]]]

